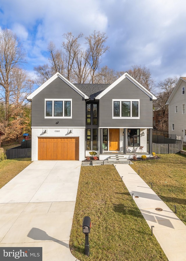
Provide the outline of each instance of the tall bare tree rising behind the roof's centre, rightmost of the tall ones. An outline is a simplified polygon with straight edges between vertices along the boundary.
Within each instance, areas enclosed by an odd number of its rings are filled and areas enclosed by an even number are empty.
[[[95,72],[101,62],[101,56],[109,49],[108,46],[105,46],[107,38],[106,33],[95,30],[91,35],[85,37],[85,43],[88,45],[92,83],[94,83]]]

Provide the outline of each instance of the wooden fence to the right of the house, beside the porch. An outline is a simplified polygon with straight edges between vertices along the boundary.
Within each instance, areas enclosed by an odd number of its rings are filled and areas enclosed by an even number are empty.
[[[147,151],[149,150],[149,144],[147,144]],[[165,143],[159,143],[159,144],[152,144],[152,152],[155,152],[156,154],[175,154],[180,152],[180,150],[183,150],[183,144],[165,144]]]

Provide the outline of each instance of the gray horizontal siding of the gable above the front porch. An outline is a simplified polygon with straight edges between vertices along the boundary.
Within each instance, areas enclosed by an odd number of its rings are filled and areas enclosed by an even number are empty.
[[[112,99],[140,99],[140,119],[112,119]],[[99,127],[153,126],[153,105],[150,97],[127,78],[117,84],[99,101]]]

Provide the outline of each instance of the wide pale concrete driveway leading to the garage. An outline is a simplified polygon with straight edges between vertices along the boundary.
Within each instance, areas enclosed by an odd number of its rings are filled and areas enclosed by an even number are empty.
[[[34,161],[0,189],[0,247],[42,247],[43,261],[69,250],[81,161]]]

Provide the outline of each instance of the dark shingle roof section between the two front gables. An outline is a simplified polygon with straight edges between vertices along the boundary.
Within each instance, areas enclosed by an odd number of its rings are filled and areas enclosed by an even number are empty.
[[[92,84],[92,83],[74,83],[74,85],[80,89],[84,94],[90,97],[90,100],[94,100],[94,98],[99,95],[102,91],[104,91],[110,84]]]

